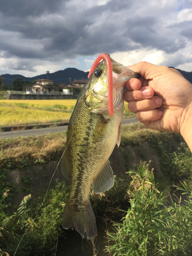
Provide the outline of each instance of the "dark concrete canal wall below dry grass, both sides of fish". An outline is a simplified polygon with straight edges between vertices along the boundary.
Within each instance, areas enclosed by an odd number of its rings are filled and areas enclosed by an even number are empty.
[[[140,161],[150,161],[151,167],[154,168],[154,174],[157,177],[163,176],[163,173],[160,169],[159,155],[154,150],[154,147],[150,145],[147,141],[140,143],[137,146],[125,146],[125,147],[116,147],[110,157],[111,165],[114,171],[114,175],[121,177],[127,172],[127,163],[130,167],[135,164],[139,164]],[[7,181],[13,183],[18,189],[17,192],[14,192],[12,196],[11,203],[20,204],[25,196],[31,194],[34,198],[38,197],[39,193],[46,192],[47,186],[51,181],[51,178],[57,167],[57,161],[51,161],[44,165],[34,165],[27,168],[16,168],[11,170],[7,176]],[[25,177],[30,177],[30,182],[24,184],[23,179]],[[67,185],[70,185],[70,180],[65,178],[61,173],[60,163],[54,174],[54,177],[51,182],[51,188],[55,187],[56,179],[58,182],[63,180],[66,181]],[[29,191],[25,191],[24,187],[27,187]]]

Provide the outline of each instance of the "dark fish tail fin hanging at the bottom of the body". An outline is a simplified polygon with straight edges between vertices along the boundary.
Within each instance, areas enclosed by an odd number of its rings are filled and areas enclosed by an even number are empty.
[[[67,201],[62,217],[62,227],[65,229],[71,227],[72,230],[75,228],[82,238],[94,239],[97,235],[97,226],[91,203],[88,202],[86,206],[83,205],[77,210],[70,207]]]

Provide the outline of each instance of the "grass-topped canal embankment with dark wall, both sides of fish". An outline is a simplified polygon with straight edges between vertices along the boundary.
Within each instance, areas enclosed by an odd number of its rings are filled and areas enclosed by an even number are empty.
[[[120,147],[116,147],[110,157],[114,174],[120,177],[140,161],[150,161],[157,178],[167,177],[168,182],[169,179],[178,181],[181,176],[187,177],[189,173],[185,169],[188,165],[177,173],[178,166],[170,159],[178,147],[181,150],[180,140],[177,134],[152,131],[141,124],[123,126]],[[1,139],[0,165],[4,180],[4,185],[0,185],[1,193],[10,189],[13,201],[19,203],[29,192],[36,195],[38,189],[44,190],[62,155],[65,142],[66,133]],[[57,178],[59,182],[65,180],[60,166],[54,180]]]

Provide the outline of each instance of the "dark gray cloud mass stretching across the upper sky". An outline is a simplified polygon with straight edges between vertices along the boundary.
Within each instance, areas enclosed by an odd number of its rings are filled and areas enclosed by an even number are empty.
[[[173,54],[192,39],[192,22],[163,24],[168,15],[176,15],[173,6],[159,9],[150,0],[103,5],[86,0],[1,1],[0,56],[20,59],[18,69],[25,70],[25,61],[59,61],[103,51],[155,48]]]

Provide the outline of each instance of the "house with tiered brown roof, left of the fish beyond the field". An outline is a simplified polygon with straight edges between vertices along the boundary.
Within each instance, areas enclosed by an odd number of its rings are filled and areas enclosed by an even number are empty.
[[[40,93],[40,94],[47,94],[49,92],[62,92],[62,89],[54,86],[53,81],[49,79],[39,79],[35,80],[36,83],[33,86],[30,86],[26,89],[27,94],[30,93]]]

